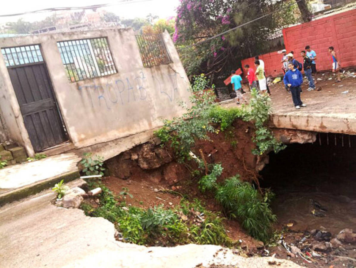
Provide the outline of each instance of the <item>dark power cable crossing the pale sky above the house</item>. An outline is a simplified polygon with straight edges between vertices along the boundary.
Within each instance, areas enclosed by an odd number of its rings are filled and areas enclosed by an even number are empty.
[[[131,4],[131,3],[137,3],[137,2],[148,2],[148,1],[153,1],[153,0],[120,0],[120,1],[117,1],[116,3],[106,3],[106,4],[98,4],[98,5],[91,5],[91,6],[50,7],[47,9],[39,9],[39,10],[33,10],[33,11],[27,11],[27,12],[21,12],[21,13],[0,15],[0,17],[12,17],[12,16],[40,13],[40,12],[49,12],[49,11],[84,10],[84,9],[94,9],[95,10],[100,7],[114,6],[114,5],[125,5],[125,4]]]

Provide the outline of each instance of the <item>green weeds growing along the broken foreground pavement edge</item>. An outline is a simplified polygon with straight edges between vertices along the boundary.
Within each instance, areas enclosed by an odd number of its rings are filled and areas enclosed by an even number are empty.
[[[226,235],[223,218],[206,210],[198,200],[189,202],[183,199],[180,206],[174,210],[163,206],[145,210],[126,207],[125,202],[117,201],[112,192],[100,182],[88,181],[88,185],[90,188],[101,187],[102,193],[97,208],[82,203],[81,208],[85,215],[103,217],[114,223],[126,242],[155,245],[158,241],[166,246],[187,243],[225,246],[232,244]],[[197,217],[197,212],[204,217],[199,225],[192,220]]]

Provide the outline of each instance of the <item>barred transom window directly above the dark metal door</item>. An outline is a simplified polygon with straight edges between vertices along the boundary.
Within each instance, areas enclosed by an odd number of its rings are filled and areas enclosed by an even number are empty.
[[[6,67],[42,62],[39,45],[1,48]]]

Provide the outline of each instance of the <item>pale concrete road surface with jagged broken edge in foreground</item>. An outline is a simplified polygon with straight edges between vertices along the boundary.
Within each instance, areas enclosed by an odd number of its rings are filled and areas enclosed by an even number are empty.
[[[115,241],[115,228],[104,218],[79,209],[51,205],[44,191],[0,208],[0,266],[6,267],[133,267],[192,268],[200,263],[231,264],[240,268],[269,267],[268,258],[244,258],[213,245],[144,247]],[[214,255],[217,255],[214,257]],[[281,262],[279,267],[299,267]]]

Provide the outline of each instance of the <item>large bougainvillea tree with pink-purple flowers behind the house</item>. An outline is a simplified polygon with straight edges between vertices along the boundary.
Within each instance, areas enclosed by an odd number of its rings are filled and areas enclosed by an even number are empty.
[[[281,17],[291,17],[283,5],[284,1],[271,4],[266,0],[180,0],[173,41],[188,75],[205,73],[218,82],[216,78],[228,76],[241,59],[266,52],[269,34],[287,23]],[[279,8],[280,14],[206,41]]]

